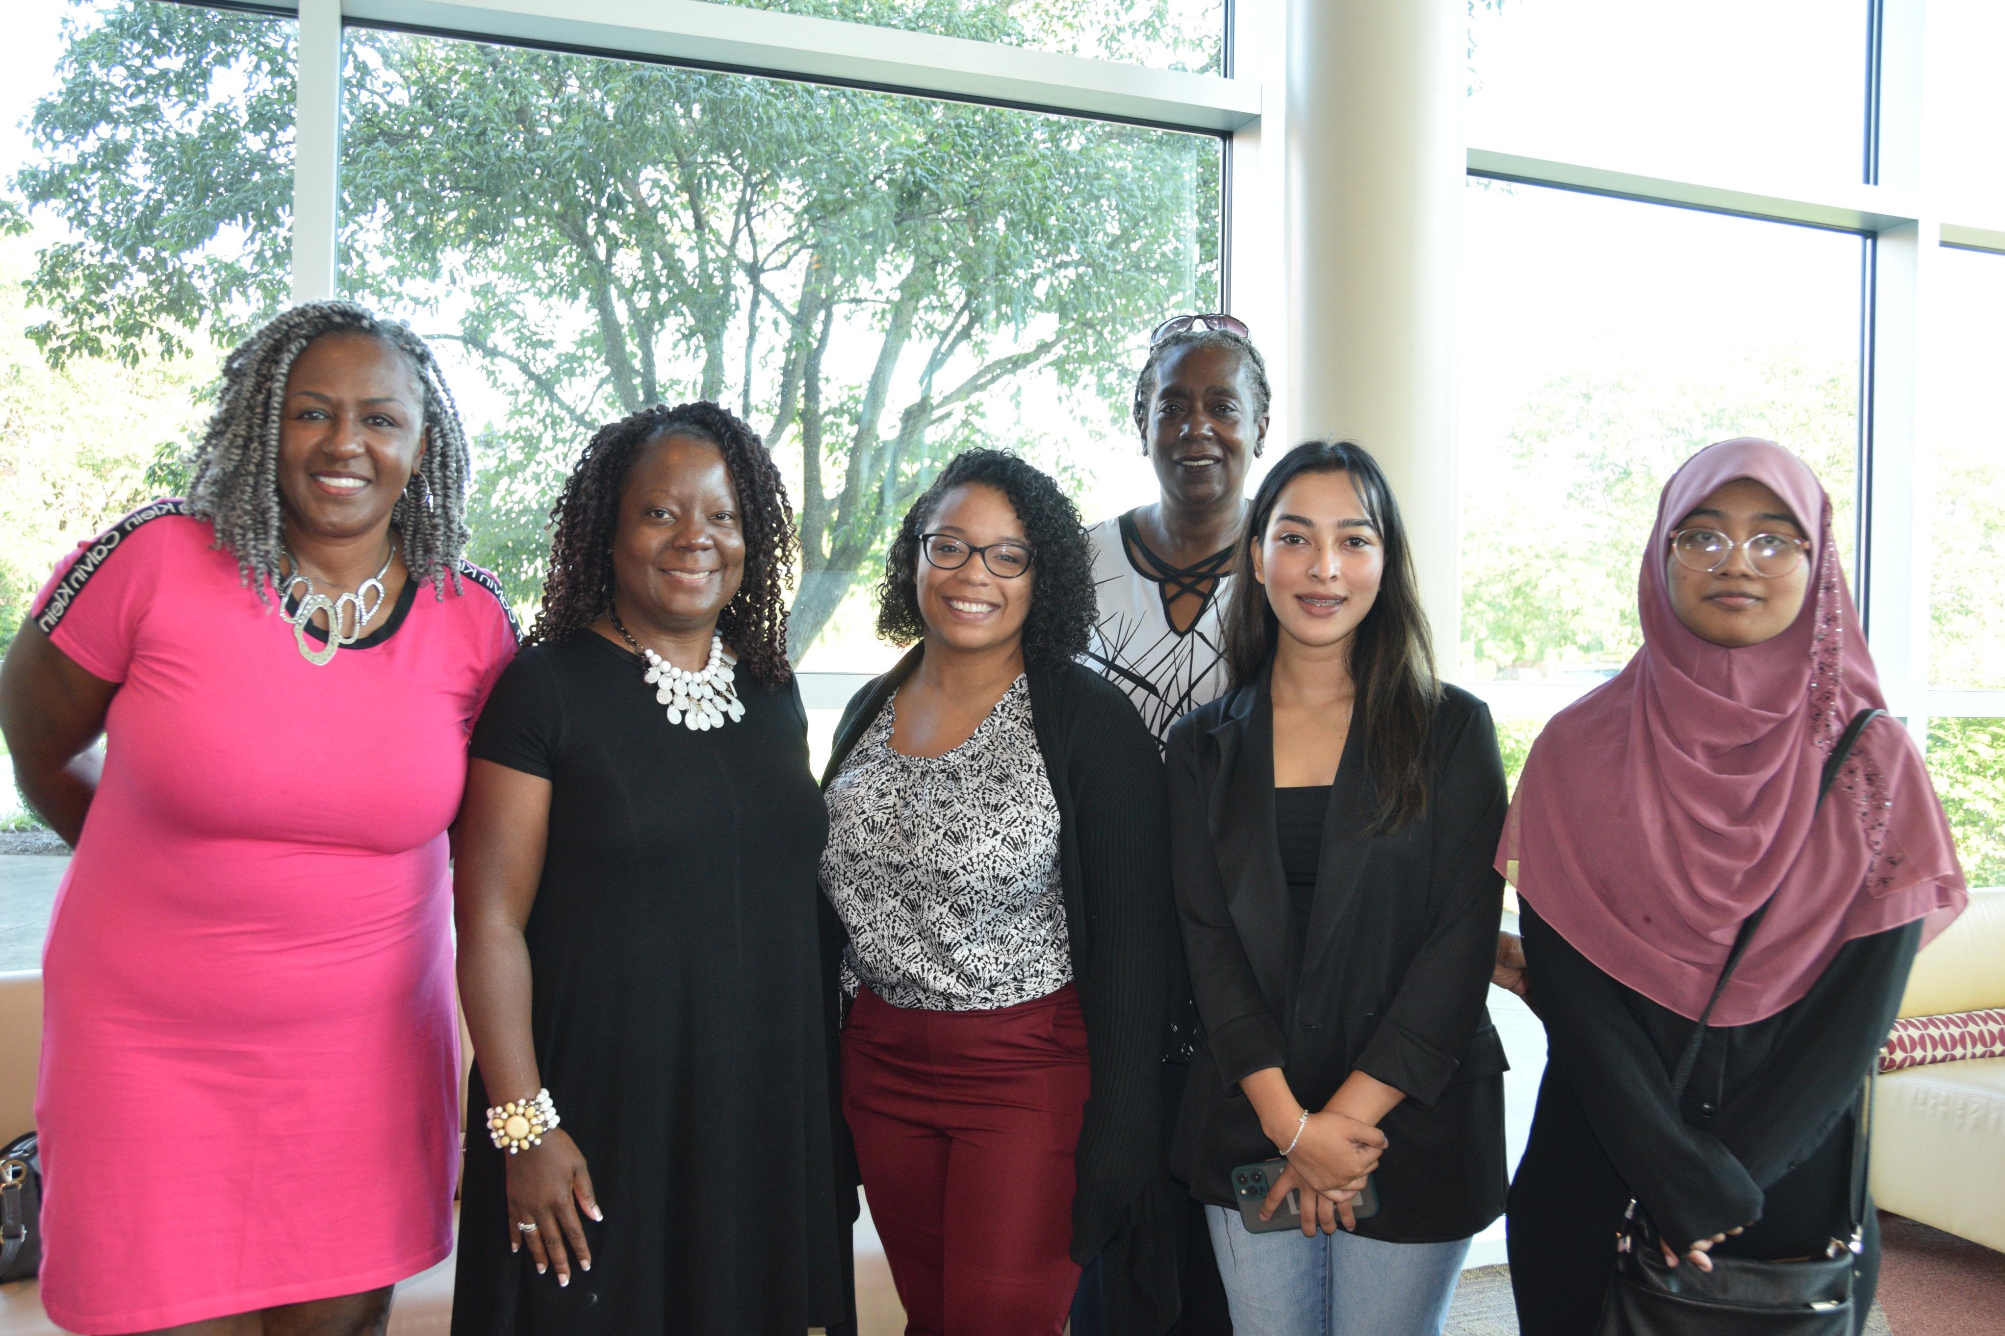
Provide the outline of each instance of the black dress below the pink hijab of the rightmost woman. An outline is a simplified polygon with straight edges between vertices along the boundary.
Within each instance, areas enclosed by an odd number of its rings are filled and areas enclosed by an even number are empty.
[[[1748,1026],[1708,1026],[1678,1106],[1670,1074],[1692,1022],[1616,981],[1524,905],[1532,1001],[1548,1062],[1532,1140],[1510,1188],[1510,1268],[1526,1336],[1588,1336],[1634,1196],[1674,1240],[1722,1256],[1823,1254],[1849,1228],[1859,1086],[1887,1040],[1921,923],[1839,947],[1798,1001]],[[1865,1214],[1859,1330],[1879,1278]]]

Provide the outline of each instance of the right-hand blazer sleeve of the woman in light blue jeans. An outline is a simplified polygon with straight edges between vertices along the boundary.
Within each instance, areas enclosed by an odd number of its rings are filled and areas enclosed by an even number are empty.
[[[1371,1032],[1357,1070],[1428,1108],[1462,1066],[1484,1018],[1504,915],[1504,877],[1492,865],[1504,835],[1504,761],[1490,707],[1470,703],[1434,775],[1428,937]]]

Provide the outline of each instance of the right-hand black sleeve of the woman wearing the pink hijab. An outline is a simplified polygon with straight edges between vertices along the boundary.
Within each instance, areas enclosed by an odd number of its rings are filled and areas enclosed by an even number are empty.
[[[1768,1188],[1817,1150],[1859,1098],[1907,991],[1921,921],[1839,947],[1790,1004],[1768,1060],[1720,1106],[1712,1132]]]

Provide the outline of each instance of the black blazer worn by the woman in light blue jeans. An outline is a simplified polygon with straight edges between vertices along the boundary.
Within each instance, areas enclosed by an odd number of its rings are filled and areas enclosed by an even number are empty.
[[[1271,671],[1271,669],[1269,669]],[[1504,765],[1490,709],[1444,687],[1426,811],[1367,833],[1361,729],[1331,785],[1307,939],[1273,815],[1269,673],[1169,731],[1171,859],[1203,1038],[1171,1148],[1191,1194],[1231,1206],[1239,1164],[1279,1154],[1239,1078],[1281,1068],[1311,1110],[1361,1070],[1406,1092],[1379,1128],[1365,1238],[1468,1238],[1504,1210],[1504,1046],[1484,997],[1504,877]]]

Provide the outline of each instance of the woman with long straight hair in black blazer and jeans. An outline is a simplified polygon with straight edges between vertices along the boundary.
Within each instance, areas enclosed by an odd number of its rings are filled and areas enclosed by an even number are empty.
[[[1211,1208],[1241,1336],[1440,1332],[1506,1188],[1496,731],[1434,679],[1399,513],[1355,445],[1275,465],[1239,575],[1235,685],[1169,733],[1203,1022],[1171,1168]],[[1279,1158],[1259,1216],[1299,1194],[1299,1230],[1249,1232],[1235,1168]]]

